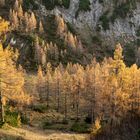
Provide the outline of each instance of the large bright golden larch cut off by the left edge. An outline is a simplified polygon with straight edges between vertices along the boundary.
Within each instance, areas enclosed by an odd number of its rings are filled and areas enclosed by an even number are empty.
[[[8,30],[8,23],[1,19],[0,33]],[[24,76],[16,69],[18,56],[10,47],[3,49],[0,43],[0,121],[4,122],[3,98],[14,102],[24,103],[28,96],[24,94]]]

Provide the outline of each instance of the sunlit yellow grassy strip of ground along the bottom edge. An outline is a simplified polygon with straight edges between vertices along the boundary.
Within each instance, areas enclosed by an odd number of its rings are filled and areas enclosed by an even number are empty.
[[[56,130],[39,130],[35,127],[8,127],[0,129],[1,140],[89,140],[88,134],[64,133]]]

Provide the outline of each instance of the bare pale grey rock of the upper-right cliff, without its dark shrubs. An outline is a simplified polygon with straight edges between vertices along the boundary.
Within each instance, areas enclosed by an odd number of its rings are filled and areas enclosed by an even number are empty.
[[[68,9],[55,7],[51,12],[61,14],[64,19],[77,28],[88,26],[93,32],[96,32],[97,27],[101,27],[100,34],[109,40],[118,40],[123,38],[123,41],[131,41],[136,39],[136,32],[140,25],[140,2],[136,3],[136,8],[131,11],[131,17],[128,14],[125,18],[116,18],[114,23],[109,22],[109,29],[103,30],[100,25],[100,17],[107,11],[114,8],[114,0],[90,0],[90,11],[80,11],[76,17],[76,12],[79,7],[79,0],[70,0]],[[118,0],[119,1],[123,0]],[[135,1],[135,0],[134,0]],[[127,2],[127,0],[125,1]],[[42,9],[44,10],[44,8]]]

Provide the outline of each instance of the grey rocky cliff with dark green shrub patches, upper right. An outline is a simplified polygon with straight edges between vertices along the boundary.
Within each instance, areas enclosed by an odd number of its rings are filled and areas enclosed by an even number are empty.
[[[68,9],[56,6],[51,13],[62,15],[79,29],[89,27],[90,31],[98,32],[112,41],[123,39],[126,42],[137,38],[140,25],[139,0],[90,0],[90,9],[78,11],[80,1],[70,0]],[[43,6],[41,10],[46,14]]]

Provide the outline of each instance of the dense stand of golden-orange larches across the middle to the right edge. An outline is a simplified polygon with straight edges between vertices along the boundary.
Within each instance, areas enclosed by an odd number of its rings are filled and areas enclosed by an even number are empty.
[[[86,67],[72,63],[39,67],[36,88],[40,101],[63,113],[66,120],[68,114],[79,120],[84,112],[92,123],[100,118],[113,125],[128,114],[140,115],[140,69],[127,67],[122,51],[118,44],[113,59],[105,58],[102,63],[94,59]]]

